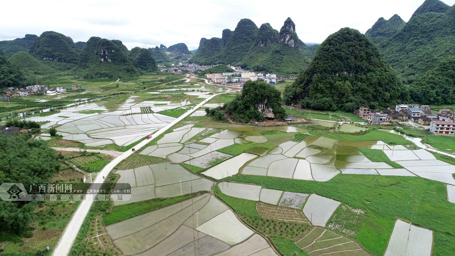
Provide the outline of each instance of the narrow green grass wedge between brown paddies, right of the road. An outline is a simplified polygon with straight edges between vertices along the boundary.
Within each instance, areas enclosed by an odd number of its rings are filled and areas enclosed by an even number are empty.
[[[103,225],[111,225],[146,212],[153,211],[164,206],[168,206],[177,202],[185,201],[187,199],[207,193],[206,191],[199,191],[193,194],[186,194],[172,198],[154,198],[141,202],[128,203],[125,205],[114,206],[108,214],[103,217]]]

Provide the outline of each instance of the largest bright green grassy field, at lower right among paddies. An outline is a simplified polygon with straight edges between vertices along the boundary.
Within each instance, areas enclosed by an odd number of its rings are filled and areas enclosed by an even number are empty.
[[[447,202],[445,185],[440,182],[419,177],[367,175],[338,175],[324,183],[251,175],[230,177],[225,181],[297,193],[316,193],[362,209],[366,212],[365,218],[358,233],[350,237],[377,255],[384,253],[396,218],[411,220],[412,204],[408,202],[416,192],[419,203],[415,205],[412,221],[434,231],[433,253],[449,255],[455,250],[455,243],[452,242],[455,234],[453,204]]]

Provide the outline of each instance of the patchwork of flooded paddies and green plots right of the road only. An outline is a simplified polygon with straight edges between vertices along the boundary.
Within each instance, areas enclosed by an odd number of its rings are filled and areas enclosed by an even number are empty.
[[[455,205],[450,202],[453,165],[424,149],[409,147],[411,142],[396,137],[394,141],[399,144],[390,143],[387,133],[376,130],[349,140],[353,135],[347,132],[323,137],[302,128],[262,130],[228,124],[219,129],[218,124],[215,127],[194,118],[177,124],[139,154],[164,162],[119,170],[119,182],[134,184],[132,190],[138,200],[130,201],[131,205],[181,193],[190,195],[195,188],[202,193],[213,190],[214,196],[197,196],[160,208],[172,206],[171,212],[182,211],[178,215],[154,214],[154,210],[109,224],[106,229],[122,253],[194,253],[194,244],[199,242],[202,247],[196,246],[196,254],[203,254],[201,248],[208,250],[203,246],[216,247],[210,248],[211,253],[226,255],[249,250],[285,255],[395,254],[403,247],[397,238],[402,235],[393,234],[397,218],[413,219],[416,227],[433,231],[427,242],[431,253],[443,254],[451,248],[445,239],[452,230],[446,224],[455,225],[449,214]],[[266,141],[246,140],[257,136],[255,133]],[[306,136],[293,141],[298,134]],[[371,140],[379,137],[383,140]],[[248,153],[255,147],[266,150]],[[187,176],[190,178],[183,178]],[[205,185],[198,185],[198,181]],[[419,203],[413,214],[408,201],[415,190]],[[114,205],[114,209],[127,205]],[[428,217],[427,209],[434,207],[438,210],[432,215],[439,218]],[[159,232],[162,234],[144,229],[149,224],[142,218],[149,215],[160,216],[150,222],[150,227],[164,229]],[[185,221],[174,223],[174,215]],[[127,222],[135,218],[138,224]],[[154,226],[160,222],[164,226]],[[121,223],[123,227],[118,226]],[[139,223],[141,230],[135,231],[132,227]],[[121,230],[130,231],[116,235]],[[418,242],[422,235],[410,237]],[[257,248],[244,246],[251,239],[261,241]]]

